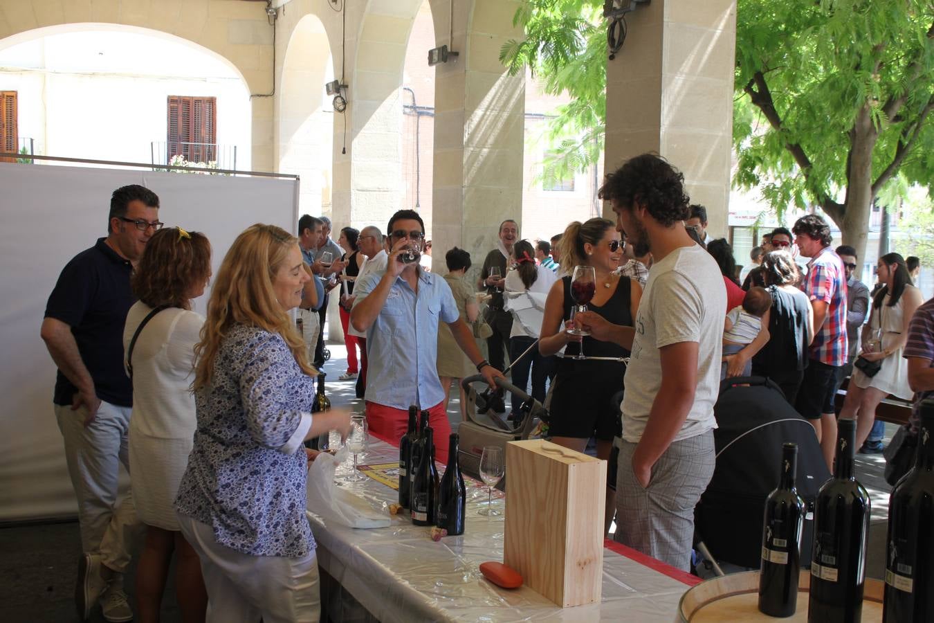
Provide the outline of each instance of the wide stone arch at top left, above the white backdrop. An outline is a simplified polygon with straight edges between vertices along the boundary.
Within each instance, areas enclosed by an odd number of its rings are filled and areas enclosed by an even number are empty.
[[[175,35],[218,54],[247,83],[252,99],[252,168],[273,170],[273,26],[257,2],[9,2],[0,9],[0,40],[47,26],[120,24]],[[268,96],[263,96],[268,94]]]

